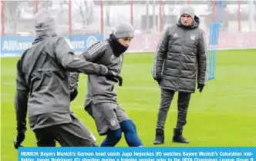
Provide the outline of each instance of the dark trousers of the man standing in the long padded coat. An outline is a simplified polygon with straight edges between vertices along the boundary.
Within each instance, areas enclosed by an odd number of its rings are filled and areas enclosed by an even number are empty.
[[[161,89],[161,101],[157,116],[157,129],[164,129],[167,120],[167,113],[170,109],[170,104],[173,100],[175,91]],[[178,92],[178,113],[177,113],[177,128],[183,128],[187,123],[187,109],[190,104],[191,93]]]

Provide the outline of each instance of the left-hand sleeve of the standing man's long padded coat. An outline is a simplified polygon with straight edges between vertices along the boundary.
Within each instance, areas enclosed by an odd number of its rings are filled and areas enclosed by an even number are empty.
[[[157,50],[154,54],[153,59],[153,79],[158,80],[162,77],[162,68],[163,68],[163,61],[166,59],[167,55],[167,48],[168,48],[168,35],[169,35],[170,28],[167,28],[163,31],[160,41],[157,45]]]

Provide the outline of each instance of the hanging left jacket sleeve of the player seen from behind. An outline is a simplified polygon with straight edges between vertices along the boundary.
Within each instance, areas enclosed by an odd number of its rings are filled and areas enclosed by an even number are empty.
[[[15,94],[15,113],[16,113],[16,128],[18,133],[25,133],[26,115],[28,111],[29,87],[25,82],[24,74],[22,73],[20,61],[17,63],[16,75],[16,94]]]

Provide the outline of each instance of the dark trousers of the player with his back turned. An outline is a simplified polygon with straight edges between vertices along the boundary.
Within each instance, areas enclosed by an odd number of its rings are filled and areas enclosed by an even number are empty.
[[[71,123],[34,130],[37,146],[97,146],[96,140],[86,126],[72,115]]]

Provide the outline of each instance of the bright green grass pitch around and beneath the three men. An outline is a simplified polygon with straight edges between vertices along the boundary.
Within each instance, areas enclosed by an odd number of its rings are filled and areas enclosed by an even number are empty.
[[[1,159],[17,160],[15,138],[15,63],[18,58],[1,59]],[[151,76],[153,54],[126,54],[123,65],[123,87],[117,87],[119,102],[137,126],[145,146],[153,146],[160,89]],[[217,78],[208,81],[202,94],[193,94],[184,136],[188,145],[171,143],[177,120],[177,95],[173,98],[166,123],[163,146],[256,146],[256,50],[219,51]],[[93,119],[83,110],[86,75],[79,84],[79,96],[72,110],[95,134],[98,143],[104,139],[96,133]],[[35,146],[31,130],[24,146]],[[125,140],[118,146],[126,146]]]

